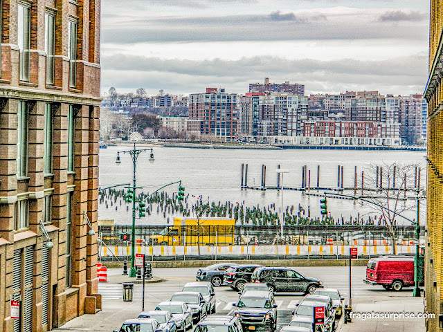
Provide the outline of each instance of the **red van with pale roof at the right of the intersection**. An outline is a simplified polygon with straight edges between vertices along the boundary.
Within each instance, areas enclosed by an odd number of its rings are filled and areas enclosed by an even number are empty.
[[[388,290],[400,291],[401,288],[414,286],[414,258],[412,256],[383,256],[373,258],[366,266],[366,279],[370,285],[381,285]],[[422,280],[419,278],[419,280]]]

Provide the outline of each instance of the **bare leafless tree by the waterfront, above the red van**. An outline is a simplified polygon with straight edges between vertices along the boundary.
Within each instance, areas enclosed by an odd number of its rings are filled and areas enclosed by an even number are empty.
[[[416,167],[417,164],[381,163],[371,164],[364,172],[364,198],[374,204],[362,201],[362,205],[381,214],[394,254],[397,253],[397,220],[404,212],[415,208],[415,202],[408,202],[408,193],[410,198],[418,183]]]

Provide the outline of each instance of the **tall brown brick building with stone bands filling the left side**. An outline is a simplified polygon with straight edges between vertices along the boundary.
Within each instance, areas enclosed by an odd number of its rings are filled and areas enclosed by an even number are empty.
[[[101,306],[100,0],[0,3],[0,331],[49,331]]]

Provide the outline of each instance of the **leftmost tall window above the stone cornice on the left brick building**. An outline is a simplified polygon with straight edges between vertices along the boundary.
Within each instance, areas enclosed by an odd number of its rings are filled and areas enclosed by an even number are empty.
[[[19,71],[20,80],[29,81],[29,49],[30,49],[30,6],[19,3],[17,42],[19,44]]]

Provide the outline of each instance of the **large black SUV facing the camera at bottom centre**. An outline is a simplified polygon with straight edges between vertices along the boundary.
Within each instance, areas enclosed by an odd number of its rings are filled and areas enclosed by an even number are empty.
[[[243,330],[272,332],[277,329],[277,304],[273,293],[247,291],[237,303],[233,303],[233,307]]]

